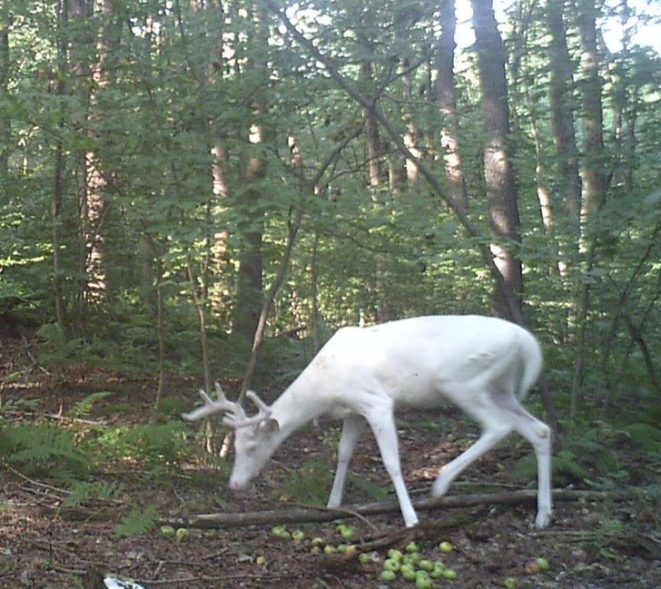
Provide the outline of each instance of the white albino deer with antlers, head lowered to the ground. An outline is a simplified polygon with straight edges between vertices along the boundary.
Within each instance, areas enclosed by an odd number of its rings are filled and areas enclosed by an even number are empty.
[[[537,339],[508,321],[475,315],[402,319],[339,329],[271,406],[254,392],[247,393],[258,408],[252,417],[216,385],[217,400],[201,390],[204,405],[183,418],[224,414],[224,423],[236,430],[230,488],[239,490],[292,432],[324,414],[341,417],[329,507],[340,506],[350,458],[365,424],[370,424],[404,523],[412,526],[418,515],[401,474],[394,410],[438,407],[447,398],[478,421],[482,434],[440,469],[432,496],[443,495],[459,473],[514,430],[532,444],[537,456],[535,525],[541,528],[551,518],[550,430],[519,404],[541,367]]]

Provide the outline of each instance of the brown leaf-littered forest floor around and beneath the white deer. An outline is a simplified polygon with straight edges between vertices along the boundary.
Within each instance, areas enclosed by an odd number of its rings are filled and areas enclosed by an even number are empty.
[[[15,369],[6,352],[5,347],[0,377],[11,367]],[[131,383],[121,375],[101,371],[95,378],[84,373],[84,369],[71,369],[55,378],[35,370],[31,381],[5,385],[0,391],[5,405],[16,398],[39,399],[31,414],[12,412],[5,419],[58,422],[55,416],[62,415],[63,407],[66,415],[66,407],[99,390],[100,381],[104,381],[104,390],[113,391],[103,403],[132,403],[131,412],[111,418],[113,424],[136,424],[149,415],[153,383]],[[129,388],[133,400],[127,398]],[[142,391],[141,395],[136,391]],[[192,383],[182,391],[191,405],[193,391]],[[135,401],[141,397],[142,402]],[[400,416],[402,466],[412,496],[428,494],[438,467],[475,439],[477,428],[457,417],[453,411]],[[90,421],[96,418],[94,411],[86,417]],[[110,423],[108,417],[104,423]],[[419,513],[420,529],[407,535],[401,534],[397,511],[358,518],[347,513],[344,522],[354,532],[351,542],[359,551],[370,548],[367,564],[360,564],[355,556],[327,555],[314,548],[315,537],[321,537],[321,546],[346,542],[336,531],[337,522],[287,524],[289,530],[304,533],[305,538],[298,542],[273,535],[274,524],[214,529],[189,525],[187,535],[179,541],[163,535],[161,525],[169,519],[267,510],[284,515],[305,503],[301,496],[306,493],[326,494],[338,437],[339,428],[331,422],[301,430],[285,442],[242,495],[225,490],[227,469],[191,463],[154,478],[143,476],[139,464],[124,464],[122,468],[108,466],[98,475],[106,483],[121,486],[121,495],[71,507],[66,506],[68,491],[62,483],[26,476],[0,456],[0,587],[100,589],[105,586],[104,577],[132,579],[145,589],[413,587],[415,584],[400,578],[390,583],[380,580],[388,549],[404,551],[411,539],[417,541],[424,558],[442,558],[457,574],[455,580],[436,580],[434,587],[661,587],[659,506],[641,505],[634,499],[557,502],[553,524],[545,530],[533,527],[535,506],[529,503],[501,506],[485,502],[426,510]],[[521,488],[511,483],[509,472],[529,451],[522,441],[511,437],[471,466],[450,487],[449,495]],[[308,469],[307,474],[301,474],[301,465],[303,471]],[[639,484],[654,482],[655,476],[658,482],[658,472],[645,463],[638,461],[630,469],[636,470]],[[390,480],[370,435],[363,437],[351,470],[347,501],[392,500]],[[117,535],[121,517],[136,507],[155,507],[160,521],[140,535]],[[453,550],[441,554],[440,541],[449,542]],[[536,566],[540,557],[550,564],[548,570]]]

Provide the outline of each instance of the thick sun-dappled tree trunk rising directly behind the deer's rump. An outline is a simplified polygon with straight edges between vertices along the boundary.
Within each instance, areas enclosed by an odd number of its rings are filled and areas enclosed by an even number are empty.
[[[472,0],[475,46],[478,52],[482,91],[482,125],[485,136],[484,168],[493,241],[491,251],[498,270],[515,296],[520,311],[523,275],[520,248],[517,187],[509,146],[508,86],[505,77],[505,46],[498,33],[492,0]],[[496,292],[502,317],[514,319],[508,301]]]

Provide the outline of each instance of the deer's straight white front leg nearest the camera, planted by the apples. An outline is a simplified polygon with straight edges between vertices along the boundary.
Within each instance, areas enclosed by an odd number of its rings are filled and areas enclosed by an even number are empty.
[[[392,407],[389,410],[381,409],[371,411],[367,416],[368,423],[377,438],[377,444],[381,453],[383,465],[386,467],[392,485],[395,487],[397,499],[400,502],[401,515],[404,518],[404,525],[412,527],[418,524],[418,515],[413,504],[410,501],[409,491],[404,483],[404,477],[401,475],[400,448],[397,438],[397,428],[395,427],[395,418],[392,414]]]

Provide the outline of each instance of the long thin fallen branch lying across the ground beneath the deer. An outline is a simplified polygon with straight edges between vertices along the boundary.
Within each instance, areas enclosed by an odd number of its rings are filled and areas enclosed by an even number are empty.
[[[626,496],[620,493],[602,493],[597,491],[556,491],[553,498],[558,501],[603,501],[619,499]],[[537,491],[513,491],[492,494],[474,494],[461,496],[443,496],[438,499],[419,499],[413,504],[416,509],[426,511],[431,509],[453,509],[483,505],[519,505],[535,503]],[[195,527],[202,529],[242,527],[245,525],[282,525],[301,524],[305,522],[330,522],[349,517],[389,514],[400,511],[400,505],[395,502],[370,503],[360,506],[350,506],[347,509],[328,509],[326,507],[301,507],[296,509],[252,511],[235,514],[198,514],[188,517],[169,517],[161,520],[161,524]]]

